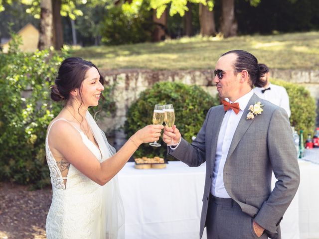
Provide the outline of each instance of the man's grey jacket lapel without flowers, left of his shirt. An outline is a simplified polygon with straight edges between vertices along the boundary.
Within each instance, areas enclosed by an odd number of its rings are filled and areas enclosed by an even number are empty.
[[[215,113],[215,119],[213,119],[213,127],[212,127],[212,140],[211,140],[211,153],[210,153],[210,168],[213,170],[213,167],[215,165],[215,157],[216,157],[216,148],[217,148],[217,140],[218,140],[218,135],[219,135],[219,130],[221,127],[221,123],[224,119],[225,116],[225,111],[224,107],[221,106],[216,109]]]

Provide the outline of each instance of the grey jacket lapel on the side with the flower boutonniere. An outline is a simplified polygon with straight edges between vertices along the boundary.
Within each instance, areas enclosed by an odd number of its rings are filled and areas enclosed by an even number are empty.
[[[250,98],[247,104],[247,107],[245,108],[243,112],[242,117],[239,120],[238,126],[236,128],[236,131],[234,133],[233,139],[231,141],[231,144],[228,150],[226,161],[228,160],[230,155],[234,152],[235,148],[237,147],[244,133],[247,131],[248,127],[253,122],[253,119],[246,119],[247,114],[249,113],[249,110],[248,110],[249,106],[255,104],[258,101],[260,101],[260,98],[254,93],[254,95]]]

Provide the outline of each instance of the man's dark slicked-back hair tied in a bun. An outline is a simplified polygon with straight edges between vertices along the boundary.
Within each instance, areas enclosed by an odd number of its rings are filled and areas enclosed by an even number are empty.
[[[236,61],[234,63],[234,69],[237,72],[246,70],[250,76],[250,86],[263,87],[265,82],[261,79],[267,72],[268,67],[264,64],[258,64],[257,58],[243,50],[232,50],[224,53],[222,56],[234,53],[237,55]],[[267,69],[265,68],[267,67]]]

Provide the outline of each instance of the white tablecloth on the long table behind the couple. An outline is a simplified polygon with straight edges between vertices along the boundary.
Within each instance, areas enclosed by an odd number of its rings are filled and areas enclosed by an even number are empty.
[[[301,184],[281,222],[282,239],[319,239],[319,165],[299,161]],[[119,173],[126,239],[198,239],[205,164]],[[204,233],[204,237],[206,235]]]

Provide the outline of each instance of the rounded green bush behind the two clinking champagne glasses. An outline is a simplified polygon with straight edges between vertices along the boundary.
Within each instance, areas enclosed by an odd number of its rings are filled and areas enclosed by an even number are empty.
[[[156,104],[173,104],[175,124],[183,138],[191,142],[203,124],[208,110],[219,105],[219,98],[212,97],[198,86],[182,83],[160,82],[141,93],[140,98],[131,105],[125,122],[125,133],[132,136],[138,129],[152,124]],[[143,144],[134,157],[166,157],[166,144],[158,141],[161,147]]]

